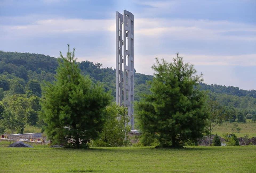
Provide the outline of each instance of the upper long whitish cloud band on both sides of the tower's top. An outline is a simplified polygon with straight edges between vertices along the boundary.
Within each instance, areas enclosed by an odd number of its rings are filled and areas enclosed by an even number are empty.
[[[146,19],[135,18],[134,35],[138,38],[152,37],[202,41],[256,41],[256,26],[243,23],[210,20]],[[44,19],[26,25],[0,25],[0,31],[11,35],[33,36],[58,33],[115,32],[114,19]],[[236,34],[234,34],[236,32]]]

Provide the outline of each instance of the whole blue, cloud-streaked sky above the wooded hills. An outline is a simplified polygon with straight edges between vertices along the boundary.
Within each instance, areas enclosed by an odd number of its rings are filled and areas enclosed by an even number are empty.
[[[183,60],[204,82],[256,90],[256,0],[0,0],[0,50],[59,56],[115,68],[115,11],[134,14],[134,68]]]

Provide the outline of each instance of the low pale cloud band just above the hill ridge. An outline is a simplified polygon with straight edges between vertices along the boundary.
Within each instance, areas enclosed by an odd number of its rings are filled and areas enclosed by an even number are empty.
[[[194,64],[195,66],[256,66],[256,54],[245,54],[237,56],[207,56],[207,55],[191,55],[180,54],[185,62]],[[135,69],[138,73],[153,74],[151,66],[155,63],[155,57],[172,62],[175,55],[158,54],[153,56],[137,55],[135,56]],[[115,68],[115,55],[106,56],[97,54],[95,56],[78,57],[78,61],[102,62],[104,67]],[[223,68],[221,67],[221,68]],[[200,71],[201,72],[201,71]]]

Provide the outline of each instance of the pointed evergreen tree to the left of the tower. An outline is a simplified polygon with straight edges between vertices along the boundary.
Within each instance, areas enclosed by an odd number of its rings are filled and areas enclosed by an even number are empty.
[[[52,142],[79,148],[98,137],[111,96],[81,75],[74,51],[68,45],[67,57],[60,52],[56,81],[43,87],[42,110]]]

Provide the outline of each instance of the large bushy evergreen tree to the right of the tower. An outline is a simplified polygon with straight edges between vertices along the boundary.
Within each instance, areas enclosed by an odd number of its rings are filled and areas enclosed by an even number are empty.
[[[206,94],[195,86],[202,81],[193,65],[177,56],[172,63],[156,58],[152,94],[136,103],[137,118],[143,133],[154,135],[162,147],[181,147],[196,141],[205,130],[208,113]]]

